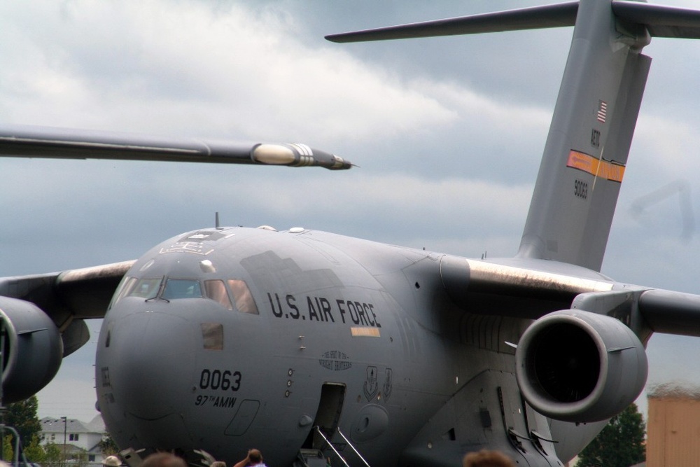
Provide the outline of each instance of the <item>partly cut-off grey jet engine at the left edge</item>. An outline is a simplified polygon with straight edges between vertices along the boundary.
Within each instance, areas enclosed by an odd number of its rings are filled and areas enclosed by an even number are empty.
[[[3,403],[11,403],[34,395],[53,379],[63,343],[56,325],[33,303],[0,297],[0,317],[6,329]]]

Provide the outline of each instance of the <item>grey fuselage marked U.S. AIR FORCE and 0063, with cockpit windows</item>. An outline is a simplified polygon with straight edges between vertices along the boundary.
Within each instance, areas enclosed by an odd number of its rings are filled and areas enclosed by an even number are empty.
[[[525,416],[505,344],[529,321],[457,309],[435,292],[441,257],[303,229],[200,230],[156,246],[100,333],[110,433],[120,447],[229,462],[258,447],[274,465],[323,447],[314,426],[359,461],[339,428],[370,465],[512,449],[507,428],[543,420]]]

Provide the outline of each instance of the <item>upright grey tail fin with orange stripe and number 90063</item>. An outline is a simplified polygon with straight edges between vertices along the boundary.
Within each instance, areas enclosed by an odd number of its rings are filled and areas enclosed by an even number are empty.
[[[580,2],[519,257],[600,270],[651,62],[635,29]]]

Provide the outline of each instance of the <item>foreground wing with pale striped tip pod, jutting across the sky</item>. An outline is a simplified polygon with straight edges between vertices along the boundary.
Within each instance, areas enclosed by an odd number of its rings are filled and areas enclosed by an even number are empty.
[[[141,134],[0,125],[0,156],[119,159],[349,169],[351,162],[305,144],[216,141]]]

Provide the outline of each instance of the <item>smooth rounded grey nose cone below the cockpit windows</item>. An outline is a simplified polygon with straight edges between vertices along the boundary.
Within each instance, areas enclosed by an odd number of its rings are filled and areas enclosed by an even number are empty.
[[[122,414],[155,420],[183,406],[199,326],[173,303],[146,305],[148,309],[113,319],[103,329],[106,336],[97,352],[100,406],[103,412],[118,407]],[[105,403],[108,407],[102,407]]]

